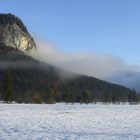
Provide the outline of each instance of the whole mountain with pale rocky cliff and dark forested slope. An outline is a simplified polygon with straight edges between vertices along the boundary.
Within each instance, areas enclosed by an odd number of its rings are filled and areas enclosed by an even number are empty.
[[[1,100],[33,103],[137,100],[135,91],[129,88],[35,60],[29,55],[35,50],[35,42],[22,21],[12,14],[0,14]]]

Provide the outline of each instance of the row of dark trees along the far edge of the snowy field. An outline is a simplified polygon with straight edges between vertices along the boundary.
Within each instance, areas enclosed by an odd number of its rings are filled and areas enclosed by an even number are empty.
[[[139,104],[140,103],[140,96],[136,93],[135,90],[131,90],[129,92],[127,99],[122,100],[121,98],[117,97],[117,94],[110,95],[107,92],[103,92],[101,95],[100,100],[97,100],[96,97],[89,91],[85,90],[82,92],[81,96],[74,97],[74,93],[67,90],[67,92],[64,92],[64,94],[61,96],[61,99],[58,98],[57,90],[51,89],[46,94],[45,100],[43,97],[41,97],[41,94],[37,91],[30,91],[26,94],[26,98],[24,100],[14,100],[14,85],[13,85],[13,79],[12,79],[12,73],[10,70],[5,70],[4,77],[3,77],[3,83],[1,83],[1,90],[0,90],[0,100],[2,103],[32,103],[32,104],[55,104],[60,102],[65,103],[80,103],[80,104],[89,104],[89,103],[102,103],[102,104]],[[79,98],[79,99],[76,99]]]

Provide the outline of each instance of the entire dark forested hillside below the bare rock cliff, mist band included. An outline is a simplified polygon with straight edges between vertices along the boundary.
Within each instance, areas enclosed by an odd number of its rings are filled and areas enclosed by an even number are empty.
[[[134,90],[83,75],[63,80],[63,75],[59,74],[63,70],[35,60],[14,48],[0,48],[1,100],[38,103],[138,100]]]

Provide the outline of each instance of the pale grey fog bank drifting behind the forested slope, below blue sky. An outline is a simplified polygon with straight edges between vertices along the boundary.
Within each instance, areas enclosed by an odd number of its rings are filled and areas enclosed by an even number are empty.
[[[66,53],[53,44],[37,41],[37,52],[32,56],[66,71],[93,76],[140,91],[140,67],[128,65],[109,54]]]

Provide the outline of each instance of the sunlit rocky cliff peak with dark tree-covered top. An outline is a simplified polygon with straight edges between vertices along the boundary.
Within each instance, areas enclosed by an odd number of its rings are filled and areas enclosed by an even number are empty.
[[[12,14],[0,14],[0,44],[25,53],[36,50],[36,44],[26,27]]]

